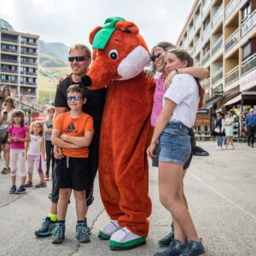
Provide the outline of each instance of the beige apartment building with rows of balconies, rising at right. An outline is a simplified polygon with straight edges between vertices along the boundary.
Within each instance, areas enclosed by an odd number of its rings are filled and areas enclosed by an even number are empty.
[[[177,46],[207,67],[205,107],[256,107],[256,0],[196,0]]]

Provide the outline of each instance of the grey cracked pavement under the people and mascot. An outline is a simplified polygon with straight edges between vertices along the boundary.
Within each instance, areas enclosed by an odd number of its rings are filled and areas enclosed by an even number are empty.
[[[236,143],[235,150],[218,150],[215,142],[199,142],[208,157],[194,157],[184,179],[189,210],[206,255],[256,255],[256,148]],[[0,160],[3,168],[3,157]],[[49,213],[51,182],[43,189],[27,189],[25,195],[9,195],[10,175],[0,174],[0,255],[153,255],[160,251],[157,241],[170,231],[171,216],[160,205],[157,168],[150,167],[149,194],[153,202],[147,244],[131,251],[113,252],[108,241],[97,234],[108,216],[95,182],[95,201],[88,222],[90,243],[75,239],[76,214],[72,196],[67,212],[66,240],[61,245],[50,237],[37,238],[34,231]],[[39,181],[34,172],[34,183]],[[20,185],[20,172],[17,177]]]

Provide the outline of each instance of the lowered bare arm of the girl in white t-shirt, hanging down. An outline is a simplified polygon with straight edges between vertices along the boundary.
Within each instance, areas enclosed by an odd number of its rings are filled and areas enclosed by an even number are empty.
[[[166,128],[166,125],[169,123],[173,109],[176,107],[176,103],[172,102],[172,100],[166,98],[166,102],[163,110],[160,113],[159,118],[156,121],[156,125],[154,128],[154,134],[148,147],[147,153],[150,158],[153,158],[155,155],[154,150],[156,148],[157,140],[159,139],[162,131]]]

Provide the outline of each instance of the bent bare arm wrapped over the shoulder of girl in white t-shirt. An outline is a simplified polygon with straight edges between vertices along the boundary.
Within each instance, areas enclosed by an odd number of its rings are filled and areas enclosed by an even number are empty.
[[[168,74],[166,77],[166,81],[164,84],[164,88],[168,89],[170,84],[172,84],[172,79],[175,75],[178,73],[188,73],[189,75],[193,76],[194,78],[199,79],[200,81],[202,79],[206,79],[209,76],[209,70],[206,67],[183,67],[178,68],[176,70],[172,70],[171,73]]]

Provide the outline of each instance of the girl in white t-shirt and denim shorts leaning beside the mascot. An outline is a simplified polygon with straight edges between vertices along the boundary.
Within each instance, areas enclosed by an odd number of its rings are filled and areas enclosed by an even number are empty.
[[[172,73],[180,68],[192,67],[193,59],[183,49],[170,49],[164,54],[164,63],[166,73]],[[172,253],[187,256],[205,253],[183,199],[183,165],[191,151],[189,128],[195,123],[202,96],[200,84],[191,75],[174,76],[164,96],[164,108],[157,119],[148,147],[148,156],[153,158],[159,139],[160,201],[172,213],[174,225],[174,240],[166,249],[166,255]],[[189,242],[186,242],[186,238]]]

